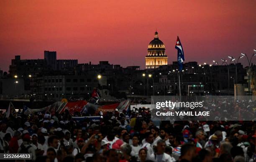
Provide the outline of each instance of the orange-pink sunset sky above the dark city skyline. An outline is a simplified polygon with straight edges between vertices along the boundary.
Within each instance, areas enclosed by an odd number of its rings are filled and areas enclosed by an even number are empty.
[[[256,49],[255,0],[1,0],[0,6],[4,71],[15,55],[44,58],[45,50],[57,51],[57,59],[144,68],[156,29],[169,64],[177,61],[177,35],[186,62],[212,64]]]

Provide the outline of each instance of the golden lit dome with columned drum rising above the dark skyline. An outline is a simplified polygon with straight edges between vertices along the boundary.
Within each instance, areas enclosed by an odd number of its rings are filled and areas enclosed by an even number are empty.
[[[161,65],[167,65],[167,58],[164,43],[159,39],[158,33],[155,32],[154,40],[148,44],[148,55],[145,57],[146,68],[158,68]]]

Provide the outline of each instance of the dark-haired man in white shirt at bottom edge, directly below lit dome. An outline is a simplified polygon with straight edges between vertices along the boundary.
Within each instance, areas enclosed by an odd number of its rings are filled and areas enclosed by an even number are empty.
[[[173,162],[172,157],[169,154],[165,153],[165,141],[160,139],[157,141],[157,152],[151,154],[151,160],[155,162]]]

